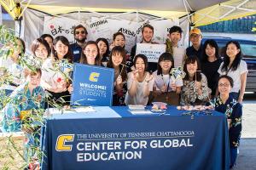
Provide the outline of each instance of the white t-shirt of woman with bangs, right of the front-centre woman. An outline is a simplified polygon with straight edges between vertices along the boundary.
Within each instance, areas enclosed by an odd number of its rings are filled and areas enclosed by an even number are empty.
[[[154,76],[154,87],[156,88],[156,90],[160,90],[164,86],[164,83],[166,85],[169,84],[168,92],[172,92],[172,88],[171,88],[172,83],[175,83],[177,87],[183,86],[182,79],[177,79],[175,81],[174,78],[170,77],[170,75],[163,75],[162,77],[161,75],[157,75],[157,71],[154,71],[153,76]]]

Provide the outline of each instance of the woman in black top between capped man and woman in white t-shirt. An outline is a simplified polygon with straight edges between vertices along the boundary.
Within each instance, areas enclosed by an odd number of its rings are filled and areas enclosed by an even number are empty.
[[[221,62],[217,42],[212,39],[207,40],[203,45],[201,71],[207,77],[208,87],[212,89],[212,96],[216,94],[219,77],[218,68]]]

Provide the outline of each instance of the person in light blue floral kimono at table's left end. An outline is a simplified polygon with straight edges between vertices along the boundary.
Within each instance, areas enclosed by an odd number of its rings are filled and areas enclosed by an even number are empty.
[[[10,95],[9,103],[3,108],[3,132],[24,132],[26,161],[38,159],[40,127],[44,109],[44,89],[40,86],[41,69],[29,71],[26,82]]]

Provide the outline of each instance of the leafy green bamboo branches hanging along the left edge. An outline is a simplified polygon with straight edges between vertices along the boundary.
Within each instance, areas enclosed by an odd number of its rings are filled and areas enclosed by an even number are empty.
[[[0,26],[0,59],[9,59],[12,54],[15,53],[15,48],[17,47],[15,31],[9,30],[4,26]],[[22,51],[22,50],[21,50]],[[64,65],[68,64],[70,67],[73,65],[63,61]],[[62,65],[63,65],[62,62]],[[35,71],[38,68],[38,65],[42,65],[39,59],[36,59],[33,56],[20,54],[18,63],[21,67]],[[54,71],[56,73],[61,73],[66,80],[72,81],[70,75],[66,74],[61,70],[61,65],[55,63]],[[0,87],[5,84],[9,84],[14,81],[15,77],[7,69],[0,67]],[[6,95],[5,90],[0,88],[0,120],[3,118],[3,108],[6,105],[12,105],[15,111],[20,111],[24,105],[26,105],[26,95],[20,93],[20,99],[12,98],[12,95]],[[32,101],[39,109],[32,109],[29,111],[20,111],[20,116],[13,115],[9,122],[6,122],[8,125],[13,125],[17,123],[17,120],[21,120],[22,129],[31,132],[31,137],[40,136],[40,127],[44,126],[44,115],[46,111],[42,108],[42,99],[48,105],[53,105],[58,110],[63,112],[64,99],[54,100],[51,98],[51,94],[45,92],[44,95],[35,95],[31,96]],[[2,121],[1,121],[2,122]],[[34,138],[34,144],[30,144],[29,147],[24,146],[22,149],[21,144],[15,139],[15,133],[9,133],[6,137],[0,136],[0,168],[1,169],[24,169],[26,167],[33,167],[36,163],[41,161],[43,152],[39,147],[39,138]],[[25,141],[26,143],[26,141]],[[33,167],[34,168],[34,167]]]

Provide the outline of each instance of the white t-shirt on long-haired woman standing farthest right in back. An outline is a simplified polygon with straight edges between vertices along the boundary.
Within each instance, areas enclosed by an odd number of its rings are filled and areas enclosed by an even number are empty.
[[[226,71],[221,71],[222,65],[224,63],[222,62],[221,65],[218,68],[219,75],[225,75]],[[229,68],[228,68],[229,69]],[[228,72],[228,76],[231,77],[234,81],[234,87],[231,88],[230,92],[236,92],[238,93],[241,88],[241,74],[248,72],[247,70],[247,63],[244,60],[241,60],[240,65],[237,67],[236,71],[230,70]]]

